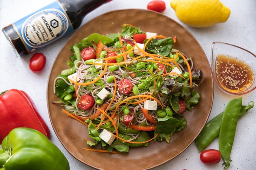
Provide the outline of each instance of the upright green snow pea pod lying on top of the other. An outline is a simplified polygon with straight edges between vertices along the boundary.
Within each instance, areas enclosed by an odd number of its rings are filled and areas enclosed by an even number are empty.
[[[230,153],[234,143],[237,121],[242,106],[242,97],[234,98],[226,106],[219,131],[219,151],[224,160],[224,169],[230,166]]]

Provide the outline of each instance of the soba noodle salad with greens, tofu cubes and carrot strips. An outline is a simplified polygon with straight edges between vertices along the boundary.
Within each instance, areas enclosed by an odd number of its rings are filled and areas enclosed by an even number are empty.
[[[88,127],[88,145],[128,152],[150,140],[170,142],[184,129],[182,113],[200,99],[194,88],[202,72],[175,41],[124,24],[120,33],[93,33],[70,47],[70,68],[54,81],[55,103]]]

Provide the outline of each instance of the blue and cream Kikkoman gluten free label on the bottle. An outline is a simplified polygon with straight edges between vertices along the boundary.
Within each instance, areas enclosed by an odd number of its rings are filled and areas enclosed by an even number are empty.
[[[28,52],[46,46],[73,30],[58,1],[13,23]]]

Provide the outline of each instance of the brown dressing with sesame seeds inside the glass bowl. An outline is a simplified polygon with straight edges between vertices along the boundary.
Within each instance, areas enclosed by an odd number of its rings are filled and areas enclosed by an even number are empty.
[[[243,92],[254,82],[252,68],[235,57],[219,54],[215,70],[218,82],[229,92]]]

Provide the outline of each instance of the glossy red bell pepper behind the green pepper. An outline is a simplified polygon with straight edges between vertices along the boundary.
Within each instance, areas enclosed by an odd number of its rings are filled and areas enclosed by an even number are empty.
[[[29,127],[50,139],[50,130],[24,91],[10,89],[0,94],[0,143],[16,127]]]

